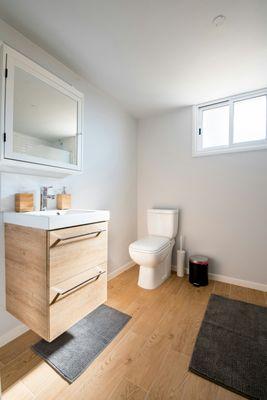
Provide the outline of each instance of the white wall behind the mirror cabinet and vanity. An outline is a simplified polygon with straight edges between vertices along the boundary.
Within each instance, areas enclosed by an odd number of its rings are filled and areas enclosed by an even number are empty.
[[[41,185],[67,185],[73,207],[109,209],[109,272],[129,262],[128,245],[136,239],[136,121],[117,102],[71,72],[41,48],[0,20],[0,40],[40,63],[85,94],[84,172],[65,179],[1,174],[1,208],[14,209],[14,193]],[[38,197],[36,196],[36,204]],[[51,207],[55,206],[51,202]],[[1,235],[1,239],[3,236]],[[0,343],[20,331],[5,312],[4,254],[1,251]],[[4,335],[4,336],[3,336]]]

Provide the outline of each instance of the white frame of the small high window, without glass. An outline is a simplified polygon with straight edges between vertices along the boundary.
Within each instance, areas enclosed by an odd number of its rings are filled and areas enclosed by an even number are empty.
[[[265,139],[253,140],[247,142],[234,143],[234,103],[240,100],[252,99],[260,96],[266,97],[266,137]],[[202,135],[199,129],[202,129],[202,116],[204,110],[209,110],[221,106],[229,105],[229,144],[203,148]],[[214,154],[234,153],[240,151],[253,151],[267,149],[267,88],[254,90],[234,96],[225,97],[219,100],[209,101],[193,106],[193,134],[192,134],[192,156],[208,156]]]

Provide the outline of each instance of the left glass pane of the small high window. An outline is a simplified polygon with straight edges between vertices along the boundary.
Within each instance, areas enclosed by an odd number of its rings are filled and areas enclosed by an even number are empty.
[[[202,147],[229,144],[229,106],[204,110],[202,120]]]

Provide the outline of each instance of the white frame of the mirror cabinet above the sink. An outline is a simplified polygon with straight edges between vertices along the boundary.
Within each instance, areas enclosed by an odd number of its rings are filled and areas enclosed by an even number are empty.
[[[4,43],[1,46],[1,132],[0,172],[28,173],[33,175],[61,177],[82,171],[82,133],[84,97],[62,79],[58,78],[39,64],[13,50]],[[13,151],[13,111],[14,111],[14,72],[18,67],[42,82],[55,88],[60,93],[77,102],[77,163],[70,164],[49,160],[29,154]]]

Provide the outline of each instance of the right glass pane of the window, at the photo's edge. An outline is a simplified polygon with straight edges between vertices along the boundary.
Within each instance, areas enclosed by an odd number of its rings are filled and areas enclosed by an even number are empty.
[[[266,96],[234,103],[234,143],[266,138]]]

